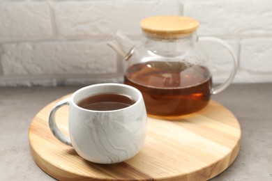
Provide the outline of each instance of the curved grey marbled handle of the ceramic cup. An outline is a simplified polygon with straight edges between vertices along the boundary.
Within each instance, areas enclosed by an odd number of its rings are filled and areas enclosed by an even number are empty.
[[[66,145],[72,146],[70,137],[65,136],[59,130],[58,126],[56,125],[56,120],[55,120],[56,111],[59,108],[63,107],[64,105],[69,105],[69,104],[70,104],[70,97],[56,103],[56,105],[53,107],[52,111],[50,112],[49,127],[50,127],[50,130],[51,130],[52,134],[54,134],[54,136],[56,137],[56,139],[59,139],[59,141],[61,141],[62,143],[66,144]]]

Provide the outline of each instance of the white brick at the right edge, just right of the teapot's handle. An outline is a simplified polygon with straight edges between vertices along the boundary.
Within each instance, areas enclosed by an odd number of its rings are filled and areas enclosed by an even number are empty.
[[[272,38],[241,41],[241,70],[272,74]]]

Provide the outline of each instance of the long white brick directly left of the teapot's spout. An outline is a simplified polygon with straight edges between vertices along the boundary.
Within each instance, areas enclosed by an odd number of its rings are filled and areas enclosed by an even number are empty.
[[[117,71],[116,54],[106,42],[47,41],[2,46],[4,76],[18,74],[109,74]]]

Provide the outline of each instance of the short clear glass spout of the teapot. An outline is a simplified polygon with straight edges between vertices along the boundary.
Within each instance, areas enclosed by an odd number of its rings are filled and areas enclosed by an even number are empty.
[[[123,56],[126,60],[133,55],[134,52],[134,43],[130,40],[124,33],[117,31],[112,39],[107,42],[109,47],[115,50],[119,55]]]

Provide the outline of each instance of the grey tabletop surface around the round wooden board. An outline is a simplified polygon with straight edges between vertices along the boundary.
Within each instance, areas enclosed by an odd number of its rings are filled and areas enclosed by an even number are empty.
[[[0,88],[0,180],[54,180],[33,162],[29,124],[46,104],[78,88]],[[242,139],[235,162],[211,180],[272,180],[272,84],[232,84],[212,99],[234,113]]]

